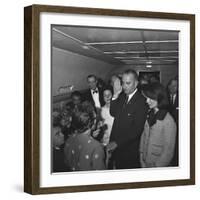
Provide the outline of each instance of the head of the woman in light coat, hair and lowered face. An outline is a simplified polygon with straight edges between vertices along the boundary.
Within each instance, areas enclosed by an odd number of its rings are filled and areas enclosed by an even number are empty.
[[[143,87],[142,94],[150,109],[166,109],[168,99],[165,88],[160,83],[151,83]]]

